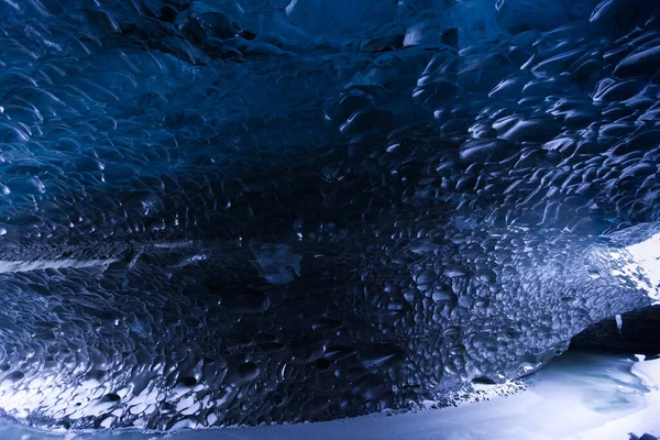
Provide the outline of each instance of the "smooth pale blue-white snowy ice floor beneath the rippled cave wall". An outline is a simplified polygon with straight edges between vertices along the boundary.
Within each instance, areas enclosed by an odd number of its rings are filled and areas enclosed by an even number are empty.
[[[395,415],[375,414],[327,422],[182,430],[53,433],[14,425],[0,427],[7,440],[261,440],[261,439],[598,439],[627,440],[630,432],[660,433],[660,360],[568,352],[507,397]],[[493,386],[482,386],[487,389]],[[502,386],[497,386],[502,389]],[[492,393],[495,394],[495,393]]]

